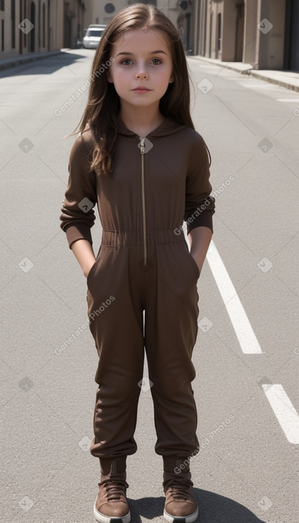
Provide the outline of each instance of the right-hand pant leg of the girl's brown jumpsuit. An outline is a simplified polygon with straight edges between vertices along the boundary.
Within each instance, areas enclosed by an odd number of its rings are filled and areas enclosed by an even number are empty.
[[[198,333],[199,276],[186,242],[157,245],[148,272],[145,339],[153,382],[158,455],[188,456],[198,449],[191,361]],[[151,291],[151,292],[150,292]]]

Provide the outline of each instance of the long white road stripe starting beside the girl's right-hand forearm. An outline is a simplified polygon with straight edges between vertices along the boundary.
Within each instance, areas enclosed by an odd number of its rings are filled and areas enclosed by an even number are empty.
[[[216,249],[213,239],[208,247],[206,258],[243,353],[262,353],[260,344],[253,332],[250,321],[248,320],[240,299],[238,298],[238,294],[235,291],[235,287],[230,280],[228,271],[225,269],[225,265]]]

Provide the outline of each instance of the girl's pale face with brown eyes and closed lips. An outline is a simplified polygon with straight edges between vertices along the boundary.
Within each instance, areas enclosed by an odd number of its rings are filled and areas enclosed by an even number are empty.
[[[158,105],[173,82],[173,64],[166,37],[155,29],[126,31],[111,49],[115,61],[108,70],[121,104]],[[136,90],[143,86],[147,90]]]

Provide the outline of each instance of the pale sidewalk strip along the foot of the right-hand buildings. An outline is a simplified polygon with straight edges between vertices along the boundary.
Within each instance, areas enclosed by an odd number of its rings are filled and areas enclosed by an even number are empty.
[[[253,78],[264,80],[265,82],[276,83],[278,86],[295,90],[299,93],[299,71],[261,71],[259,69],[253,69],[253,66],[251,66],[250,63],[222,62],[221,60],[204,58],[203,56],[188,56],[188,58],[196,58],[198,61],[213,63],[223,69],[232,69],[233,71],[237,71],[237,73],[247,74],[253,76]]]

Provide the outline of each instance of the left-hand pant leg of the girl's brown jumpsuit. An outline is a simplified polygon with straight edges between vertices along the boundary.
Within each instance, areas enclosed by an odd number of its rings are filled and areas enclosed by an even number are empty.
[[[88,314],[99,356],[91,445],[95,457],[131,455],[137,450],[133,434],[144,361],[142,275],[137,260],[133,248],[101,247],[88,274]]]

